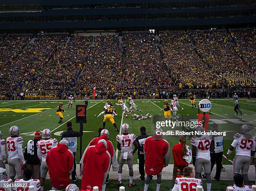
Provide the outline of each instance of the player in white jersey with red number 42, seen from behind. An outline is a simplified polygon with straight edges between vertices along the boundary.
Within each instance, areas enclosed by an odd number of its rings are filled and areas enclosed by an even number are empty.
[[[197,126],[197,132],[204,132],[204,127]],[[204,167],[207,191],[211,190],[211,157],[213,152],[212,137],[209,135],[197,135],[190,140],[192,144],[192,158],[195,163],[195,178],[200,178],[202,167]]]

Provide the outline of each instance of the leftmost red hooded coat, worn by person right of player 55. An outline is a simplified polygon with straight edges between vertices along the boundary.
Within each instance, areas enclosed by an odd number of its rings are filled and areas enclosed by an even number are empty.
[[[65,189],[70,184],[69,176],[73,171],[74,155],[67,145],[59,143],[46,156],[52,186]]]

